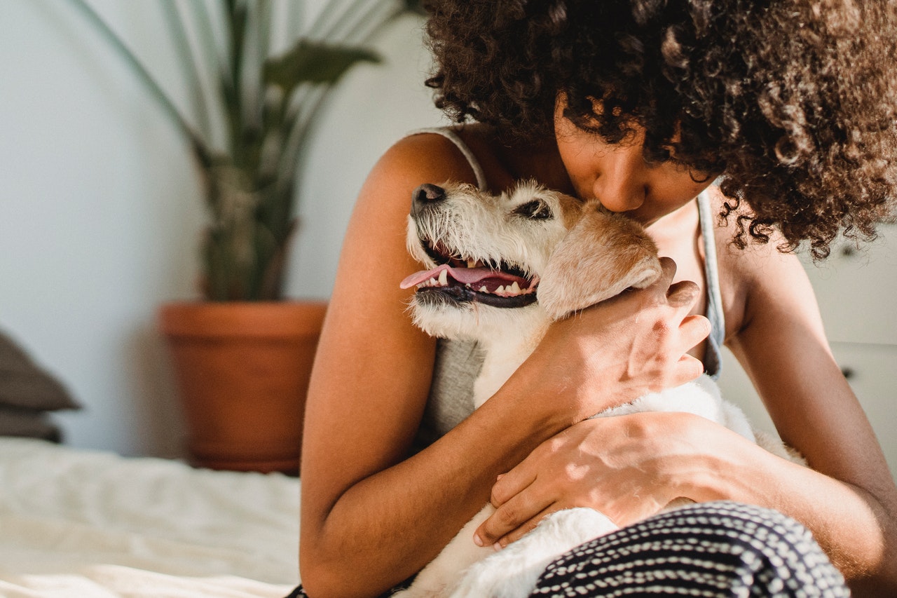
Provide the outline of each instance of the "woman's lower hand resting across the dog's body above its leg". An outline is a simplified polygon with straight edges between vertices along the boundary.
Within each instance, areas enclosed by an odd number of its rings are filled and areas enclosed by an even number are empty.
[[[696,498],[687,480],[708,466],[715,432],[733,434],[684,413],[636,413],[571,426],[499,477],[491,497],[497,511],[476,530],[475,541],[507,546],[545,515],[575,506],[595,508],[623,526],[675,498]]]

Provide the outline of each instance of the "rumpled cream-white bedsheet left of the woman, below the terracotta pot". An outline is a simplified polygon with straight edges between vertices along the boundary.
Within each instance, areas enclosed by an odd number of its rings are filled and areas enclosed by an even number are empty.
[[[299,480],[0,438],[0,596],[283,597]]]

